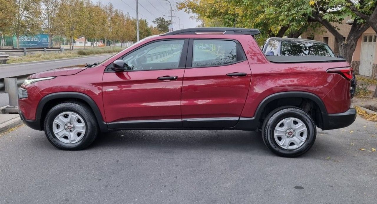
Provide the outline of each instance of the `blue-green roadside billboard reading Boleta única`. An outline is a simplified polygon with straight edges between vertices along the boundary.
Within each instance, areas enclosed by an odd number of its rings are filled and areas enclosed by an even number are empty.
[[[48,48],[48,34],[22,35],[20,48]],[[13,36],[13,48],[17,48],[17,38]]]

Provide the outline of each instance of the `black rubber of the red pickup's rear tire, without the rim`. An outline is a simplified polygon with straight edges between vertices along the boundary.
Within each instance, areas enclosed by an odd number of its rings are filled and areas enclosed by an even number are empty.
[[[308,136],[305,140],[304,144],[297,149],[288,150],[280,147],[274,138],[274,129],[276,125],[283,120],[284,118],[297,118],[301,120],[305,126],[307,127]],[[302,155],[303,153],[307,152],[311,146],[313,146],[314,141],[316,140],[316,126],[310,117],[305,111],[302,109],[298,109],[297,107],[281,107],[278,109],[273,110],[265,119],[263,125],[263,140],[266,146],[275,154],[279,156],[285,157],[295,157]]]

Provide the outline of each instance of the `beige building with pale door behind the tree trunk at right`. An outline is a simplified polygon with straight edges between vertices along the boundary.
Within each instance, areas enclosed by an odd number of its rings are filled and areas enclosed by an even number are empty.
[[[338,32],[346,39],[351,25],[346,24],[347,20],[343,20],[342,24],[333,24],[339,30]],[[338,41],[325,27],[316,29],[315,31],[308,29],[301,35],[303,39],[312,39],[327,43],[337,55],[339,54]],[[351,66],[356,74],[377,77],[377,35],[372,28],[368,28],[357,41],[357,46],[352,56]]]

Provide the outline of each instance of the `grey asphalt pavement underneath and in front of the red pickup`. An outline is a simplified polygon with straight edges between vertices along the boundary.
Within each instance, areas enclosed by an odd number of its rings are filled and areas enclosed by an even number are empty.
[[[0,136],[0,203],[375,203],[372,147],[377,123],[359,117],[299,158],[257,132],[121,131],[62,151],[22,126]]]

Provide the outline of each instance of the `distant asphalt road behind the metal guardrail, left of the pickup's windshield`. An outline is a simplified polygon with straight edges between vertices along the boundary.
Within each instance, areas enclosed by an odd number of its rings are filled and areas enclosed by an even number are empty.
[[[114,54],[58,59],[53,61],[38,61],[31,63],[17,63],[0,65],[0,78],[34,74],[60,67],[76,66],[86,63],[103,61]]]

